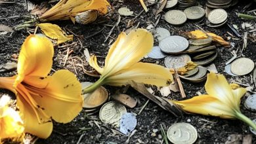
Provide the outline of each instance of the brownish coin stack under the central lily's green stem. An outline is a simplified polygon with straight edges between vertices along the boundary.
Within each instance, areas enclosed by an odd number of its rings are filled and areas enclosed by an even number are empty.
[[[91,82],[82,82],[82,88],[91,85]],[[83,94],[83,108],[87,115],[96,115],[100,106],[108,100],[108,91],[103,86],[97,88],[94,92]]]

